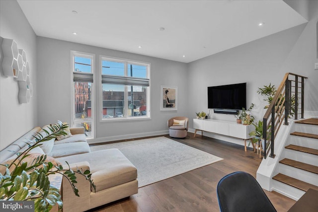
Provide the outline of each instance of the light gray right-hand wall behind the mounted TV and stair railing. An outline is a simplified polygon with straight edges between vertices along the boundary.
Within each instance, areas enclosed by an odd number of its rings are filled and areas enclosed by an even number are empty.
[[[195,118],[195,112],[203,110],[210,112],[212,118],[234,121],[233,115],[208,110],[207,87],[247,82],[247,105],[256,105],[252,114],[260,119],[265,111],[257,88],[270,82],[277,88],[286,72],[309,77],[305,86],[305,115],[318,117],[318,71],[314,70],[317,1],[310,2],[309,11],[310,21],[306,24],[189,63],[189,117]]]

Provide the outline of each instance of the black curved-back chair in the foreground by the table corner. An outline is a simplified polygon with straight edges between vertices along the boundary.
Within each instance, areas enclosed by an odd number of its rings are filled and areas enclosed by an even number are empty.
[[[223,177],[217,195],[221,212],[276,212],[258,182],[246,172]]]

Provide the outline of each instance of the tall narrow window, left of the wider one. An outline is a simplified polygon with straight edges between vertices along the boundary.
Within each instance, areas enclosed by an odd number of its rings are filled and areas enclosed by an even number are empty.
[[[94,56],[72,52],[73,56],[73,126],[84,127],[85,135],[93,138],[93,73]]]

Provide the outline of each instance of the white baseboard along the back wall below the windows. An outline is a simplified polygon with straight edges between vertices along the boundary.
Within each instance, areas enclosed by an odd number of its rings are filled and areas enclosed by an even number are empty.
[[[87,139],[87,143],[89,144],[104,143],[104,142],[120,141],[120,140],[126,140],[126,139],[138,139],[138,138],[144,138],[149,136],[161,136],[166,134],[169,134],[168,130],[148,132],[148,133],[136,133],[136,134],[128,134],[128,135],[120,135],[120,136],[110,136],[110,137],[97,138],[97,139]]]

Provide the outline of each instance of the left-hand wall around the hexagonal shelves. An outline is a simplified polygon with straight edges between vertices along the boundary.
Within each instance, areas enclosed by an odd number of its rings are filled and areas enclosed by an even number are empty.
[[[34,93],[29,104],[19,104],[18,83],[0,71],[0,150],[37,126],[36,35],[15,0],[0,1],[0,37],[13,39],[30,64]],[[1,67],[1,66],[0,66]]]

